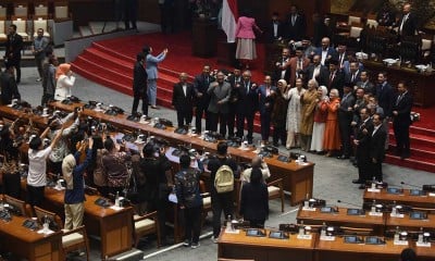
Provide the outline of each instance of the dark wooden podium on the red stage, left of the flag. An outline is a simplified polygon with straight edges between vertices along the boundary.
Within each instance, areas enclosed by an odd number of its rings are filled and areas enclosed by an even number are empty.
[[[192,37],[191,54],[194,57],[214,57],[217,42],[217,21],[209,18],[195,20]]]

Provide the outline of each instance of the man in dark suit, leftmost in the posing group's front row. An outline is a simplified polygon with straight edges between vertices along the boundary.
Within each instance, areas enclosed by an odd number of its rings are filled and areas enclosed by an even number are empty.
[[[179,83],[172,91],[172,105],[177,112],[178,127],[190,125],[194,110],[194,85],[187,83],[187,74],[179,74]]]

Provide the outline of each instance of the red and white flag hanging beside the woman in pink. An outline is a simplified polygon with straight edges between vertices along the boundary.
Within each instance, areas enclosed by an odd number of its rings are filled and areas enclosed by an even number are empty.
[[[222,29],[227,42],[236,41],[237,0],[224,0],[222,5]]]

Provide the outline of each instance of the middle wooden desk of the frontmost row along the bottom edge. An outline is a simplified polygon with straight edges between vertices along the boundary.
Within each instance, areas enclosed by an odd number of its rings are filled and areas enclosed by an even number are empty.
[[[336,237],[334,241],[318,240],[314,260],[391,261],[398,260],[405,248],[394,245],[393,240],[386,240],[385,245],[346,244],[344,237]]]

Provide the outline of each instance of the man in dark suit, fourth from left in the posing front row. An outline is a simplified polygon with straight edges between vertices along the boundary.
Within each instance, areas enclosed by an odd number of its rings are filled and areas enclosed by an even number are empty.
[[[256,111],[259,107],[259,97],[257,92],[257,84],[251,82],[251,72],[245,71],[243,76],[244,80],[237,88],[237,137],[244,137],[244,126],[246,119],[248,125],[248,142],[252,144],[253,115],[256,114]]]

